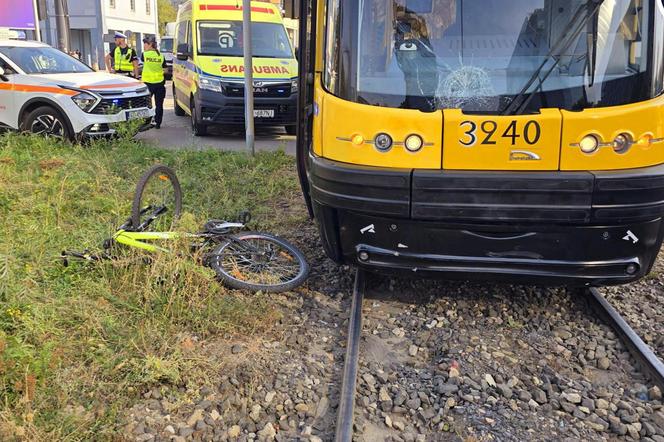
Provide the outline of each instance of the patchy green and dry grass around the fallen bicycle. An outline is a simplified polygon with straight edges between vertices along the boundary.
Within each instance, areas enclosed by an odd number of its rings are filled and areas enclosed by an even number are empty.
[[[115,440],[147,388],[218,373],[190,354],[193,342],[253,335],[278,318],[265,297],[227,290],[187,258],[60,264],[61,250],[97,248],[124,221],[137,178],[157,162],[178,173],[189,227],[249,209],[254,227],[279,233],[298,216],[283,211],[298,188],[281,152],[0,135],[0,439]]]

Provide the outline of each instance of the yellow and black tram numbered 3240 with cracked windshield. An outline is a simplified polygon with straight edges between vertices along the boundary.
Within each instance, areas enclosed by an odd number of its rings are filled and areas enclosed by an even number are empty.
[[[662,0],[303,0],[298,168],[330,258],[565,285],[664,234]]]

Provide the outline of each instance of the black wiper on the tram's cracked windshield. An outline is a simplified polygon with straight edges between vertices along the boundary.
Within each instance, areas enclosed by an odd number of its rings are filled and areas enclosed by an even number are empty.
[[[551,46],[551,50],[546,55],[542,64],[535,70],[533,75],[528,79],[528,82],[523,86],[521,91],[510,101],[507,107],[502,111],[503,115],[518,115],[523,113],[530,104],[530,101],[535,96],[535,92],[542,87],[544,82],[549,78],[553,70],[560,63],[560,59],[565,52],[577,41],[583,29],[587,26],[590,19],[597,19],[599,8],[604,3],[604,0],[588,0],[581,4],[569,23],[565,25],[567,31],[556,40]],[[597,53],[597,26],[593,26],[594,35],[592,39],[589,38],[589,47],[587,56],[591,59],[588,60],[588,70],[591,82],[595,76],[595,54]],[[547,67],[547,65],[549,65]],[[535,84],[535,87],[532,87]],[[532,89],[531,89],[532,88]]]

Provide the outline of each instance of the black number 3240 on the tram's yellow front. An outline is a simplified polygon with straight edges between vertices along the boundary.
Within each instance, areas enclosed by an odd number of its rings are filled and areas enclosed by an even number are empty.
[[[512,146],[515,146],[518,140],[523,139],[526,144],[533,146],[542,136],[542,127],[534,120],[528,121],[522,131],[519,131],[517,122],[514,120],[503,131],[499,130],[498,123],[492,120],[483,121],[479,125],[475,121],[464,121],[459,126],[465,135],[459,140],[459,143],[466,147],[474,146],[478,141],[485,146],[496,145],[499,139],[510,140]],[[502,135],[498,135],[501,132]]]

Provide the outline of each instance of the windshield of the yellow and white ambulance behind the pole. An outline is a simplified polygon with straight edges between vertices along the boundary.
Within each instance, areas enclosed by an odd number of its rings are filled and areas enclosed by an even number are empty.
[[[251,42],[254,57],[293,58],[290,40],[281,24],[252,22]],[[198,54],[242,57],[242,22],[199,22]]]

